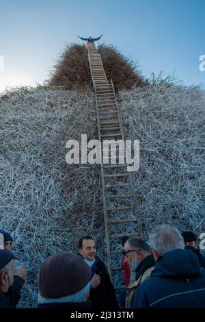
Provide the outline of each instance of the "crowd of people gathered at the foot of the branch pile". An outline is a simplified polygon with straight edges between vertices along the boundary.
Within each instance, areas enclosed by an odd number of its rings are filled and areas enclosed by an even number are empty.
[[[0,308],[16,308],[25,264],[12,252],[12,236],[0,230]],[[38,272],[38,308],[205,308],[205,256],[193,232],[159,225],[149,240],[123,236],[124,288],[118,299],[92,236],[79,253],[55,253]]]

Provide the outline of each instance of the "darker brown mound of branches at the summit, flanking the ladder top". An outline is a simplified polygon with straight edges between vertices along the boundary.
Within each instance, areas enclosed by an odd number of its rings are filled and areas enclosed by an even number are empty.
[[[137,70],[137,64],[124,57],[117,48],[112,45],[100,45],[98,52],[102,57],[105,73],[108,79],[113,79],[116,90],[145,84]],[[65,86],[68,89],[92,86],[85,45],[72,44],[66,47],[51,72],[49,86]]]

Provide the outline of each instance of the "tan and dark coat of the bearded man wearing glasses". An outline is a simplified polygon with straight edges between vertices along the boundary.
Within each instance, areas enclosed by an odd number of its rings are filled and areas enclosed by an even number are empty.
[[[139,266],[137,267],[136,271],[136,280],[132,284],[128,285],[126,289],[126,297],[125,297],[125,307],[131,308],[132,307],[132,301],[133,301],[133,295],[135,293],[135,290],[141,283],[148,280],[150,278],[150,275],[154,269],[154,257],[152,255],[146,257],[144,260],[141,261]]]

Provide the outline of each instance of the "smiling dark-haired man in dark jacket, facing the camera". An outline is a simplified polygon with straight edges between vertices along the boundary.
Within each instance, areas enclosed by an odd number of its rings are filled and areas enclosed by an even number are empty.
[[[90,297],[93,308],[118,308],[113,284],[105,264],[96,256],[96,245],[90,236],[79,241],[79,252],[89,267],[92,268]]]

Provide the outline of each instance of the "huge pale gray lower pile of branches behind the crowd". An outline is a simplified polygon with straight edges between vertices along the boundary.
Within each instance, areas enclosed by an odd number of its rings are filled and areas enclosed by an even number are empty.
[[[134,188],[145,238],[158,223],[197,235],[205,231],[204,103],[204,92],[197,88],[156,80],[122,92],[126,138],[140,140]],[[66,140],[80,142],[85,133],[88,140],[98,138],[94,94],[21,89],[0,99],[0,105],[0,227],[12,234],[14,252],[27,266],[20,307],[33,307],[38,269],[50,254],[77,252],[79,238],[91,234],[106,260],[100,166],[66,163]],[[118,217],[113,213],[113,219]],[[112,229],[123,232],[123,226]],[[116,258],[116,266],[120,262]]]

